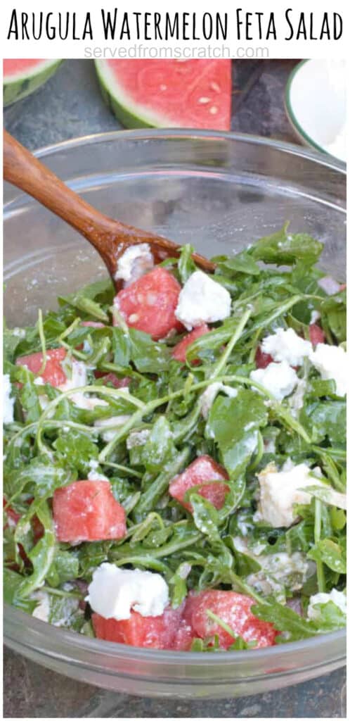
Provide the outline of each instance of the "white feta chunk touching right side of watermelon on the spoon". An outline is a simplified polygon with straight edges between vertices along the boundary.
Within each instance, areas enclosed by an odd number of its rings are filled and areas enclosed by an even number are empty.
[[[196,270],[189,276],[179,294],[176,318],[191,330],[202,323],[215,323],[230,315],[230,293],[210,278]]]

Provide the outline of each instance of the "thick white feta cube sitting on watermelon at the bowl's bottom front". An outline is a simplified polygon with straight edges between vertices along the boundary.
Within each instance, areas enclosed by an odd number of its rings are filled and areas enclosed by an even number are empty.
[[[141,616],[161,616],[169,603],[169,588],[159,573],[125,570],[102,563],[92,575],[89,601],[93,611],[105,619],[130,619],[130,611]]]

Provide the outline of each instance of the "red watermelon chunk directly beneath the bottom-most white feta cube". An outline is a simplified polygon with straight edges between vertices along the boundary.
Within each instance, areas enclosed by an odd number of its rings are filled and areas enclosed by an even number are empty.
[[[182,618],[182,608],[165,609],[161,616],[141,616],[131,611],[130,619],[116,621],[92,614],[92,625],[97,638],[115,643],[144,648],[169,649],[173,647]]]

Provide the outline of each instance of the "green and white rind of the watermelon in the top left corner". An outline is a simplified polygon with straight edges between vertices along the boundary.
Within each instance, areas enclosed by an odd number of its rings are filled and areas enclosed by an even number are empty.
[[[43,60],[21,74],[4,77],[4,107],[30,95],[43,85],[58,69],[62,60]]]

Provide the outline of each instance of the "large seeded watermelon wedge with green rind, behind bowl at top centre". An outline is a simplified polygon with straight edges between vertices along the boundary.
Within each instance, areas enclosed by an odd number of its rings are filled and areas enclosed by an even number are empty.
[[[97,60],[102,95],[126,128],[230,130],[230,60]]]

